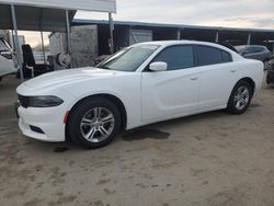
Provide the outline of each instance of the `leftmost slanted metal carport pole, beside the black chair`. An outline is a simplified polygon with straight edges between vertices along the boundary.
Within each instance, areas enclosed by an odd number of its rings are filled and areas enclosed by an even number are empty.
[[[16,14],[15,14],[15,9],[14,9],[14,4],[11,4],[11,18],[12,18],[12,23],[13,23],[13,30],[14,30],[14,34],[15,34],[15,48],[16,48],[16,58],[18,58],[18,62],[19,62],[19,70],[20,70],[20,78],[21,78],[21,82],[24,82],[24,73],[23,73],[23,60],[22,60],[22,54],[21,54],[21,49],[19,47],[19,36],[18,36],[18,23],[16,23]]]

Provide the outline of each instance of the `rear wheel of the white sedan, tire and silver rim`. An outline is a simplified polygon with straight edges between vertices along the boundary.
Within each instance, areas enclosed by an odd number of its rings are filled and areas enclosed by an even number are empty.
[[[229,96],[227,112],[236,115],[244,113],[250,105],[252,95],[251,85],[247,81],[239,81]]]

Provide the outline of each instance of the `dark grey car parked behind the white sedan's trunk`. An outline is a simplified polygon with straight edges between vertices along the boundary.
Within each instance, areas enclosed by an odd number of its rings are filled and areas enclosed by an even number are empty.
[[[236,46],[236,49],[241,56],[249,59],[256,59],[264,62],[264,69],[269,67],[269,60],[272,53],[265,47],[260,45],[242,45]]]

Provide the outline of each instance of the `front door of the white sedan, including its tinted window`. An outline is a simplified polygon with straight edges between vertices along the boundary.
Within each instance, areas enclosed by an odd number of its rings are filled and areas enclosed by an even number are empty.
[[[142,121],[193,113],[197,110],[199,69],[192,45],[164,48],[152,60],[168,64],[167,71],[144,71]]]

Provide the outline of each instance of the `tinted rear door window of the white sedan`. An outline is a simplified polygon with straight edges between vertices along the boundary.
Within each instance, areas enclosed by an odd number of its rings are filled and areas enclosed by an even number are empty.
[[[230,62],[231,56],[225,50],[210,46],[197,46],[197,57],[199,66]]]

